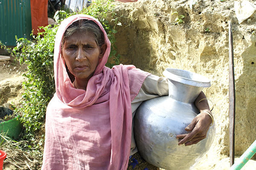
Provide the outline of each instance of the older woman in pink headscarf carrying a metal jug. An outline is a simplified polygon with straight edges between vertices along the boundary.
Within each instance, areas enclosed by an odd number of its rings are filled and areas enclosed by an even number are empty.
[[[137,152],[133,116],[141,102],[168,95],[166,78],[133,65],[105,67],[111,43],[102,25],[73,15],[58,28],[54,49],[56,93],[46,114],[43,170],[157,170]],[[196,101],[205,98],[201,93]],[[206,137],[207,100],[177,144]]]

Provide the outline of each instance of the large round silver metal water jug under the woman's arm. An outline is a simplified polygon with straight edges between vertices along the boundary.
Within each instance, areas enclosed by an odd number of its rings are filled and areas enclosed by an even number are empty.
[[[156,167],[167,170],[189,170],[209,150],[215,136],[215,125],[207,138],[191,146],[180,145],[176,136],[189,133],[185,127],[199,113],[195,99],[210,80],[190,71],[167,68],[169,96],[143,102],[134,119],[134,137],[140,155]]]

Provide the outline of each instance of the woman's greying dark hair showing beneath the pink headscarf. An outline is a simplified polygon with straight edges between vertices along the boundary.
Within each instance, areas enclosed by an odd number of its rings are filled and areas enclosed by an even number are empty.
[[[61,41],[61,47],[63,47],[65,40],[67,40],[67,38],[72,36],[74,33],[93,34],[93,37],[99,47],[105,44],[104,34],[99,26],[91,20],[83,19],[75,21],[67,28]]]

